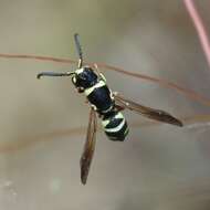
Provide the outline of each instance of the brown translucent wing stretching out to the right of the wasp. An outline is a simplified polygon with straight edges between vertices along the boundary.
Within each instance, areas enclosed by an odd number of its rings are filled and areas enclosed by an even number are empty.
[[[118,94],[114,94],[114,97],[115,97],[116,104],[118,104],[119,106],[122,106],[124,108],[135,111],[135,112],[141,114],[143,116],[146,116],[151,119],[172,124],[172,125],[180,126],[180,127],[183,126],[179,119],[175,118],[167,112],[143,106],[133,101],[126,99],[122,95],[118,95]]]

